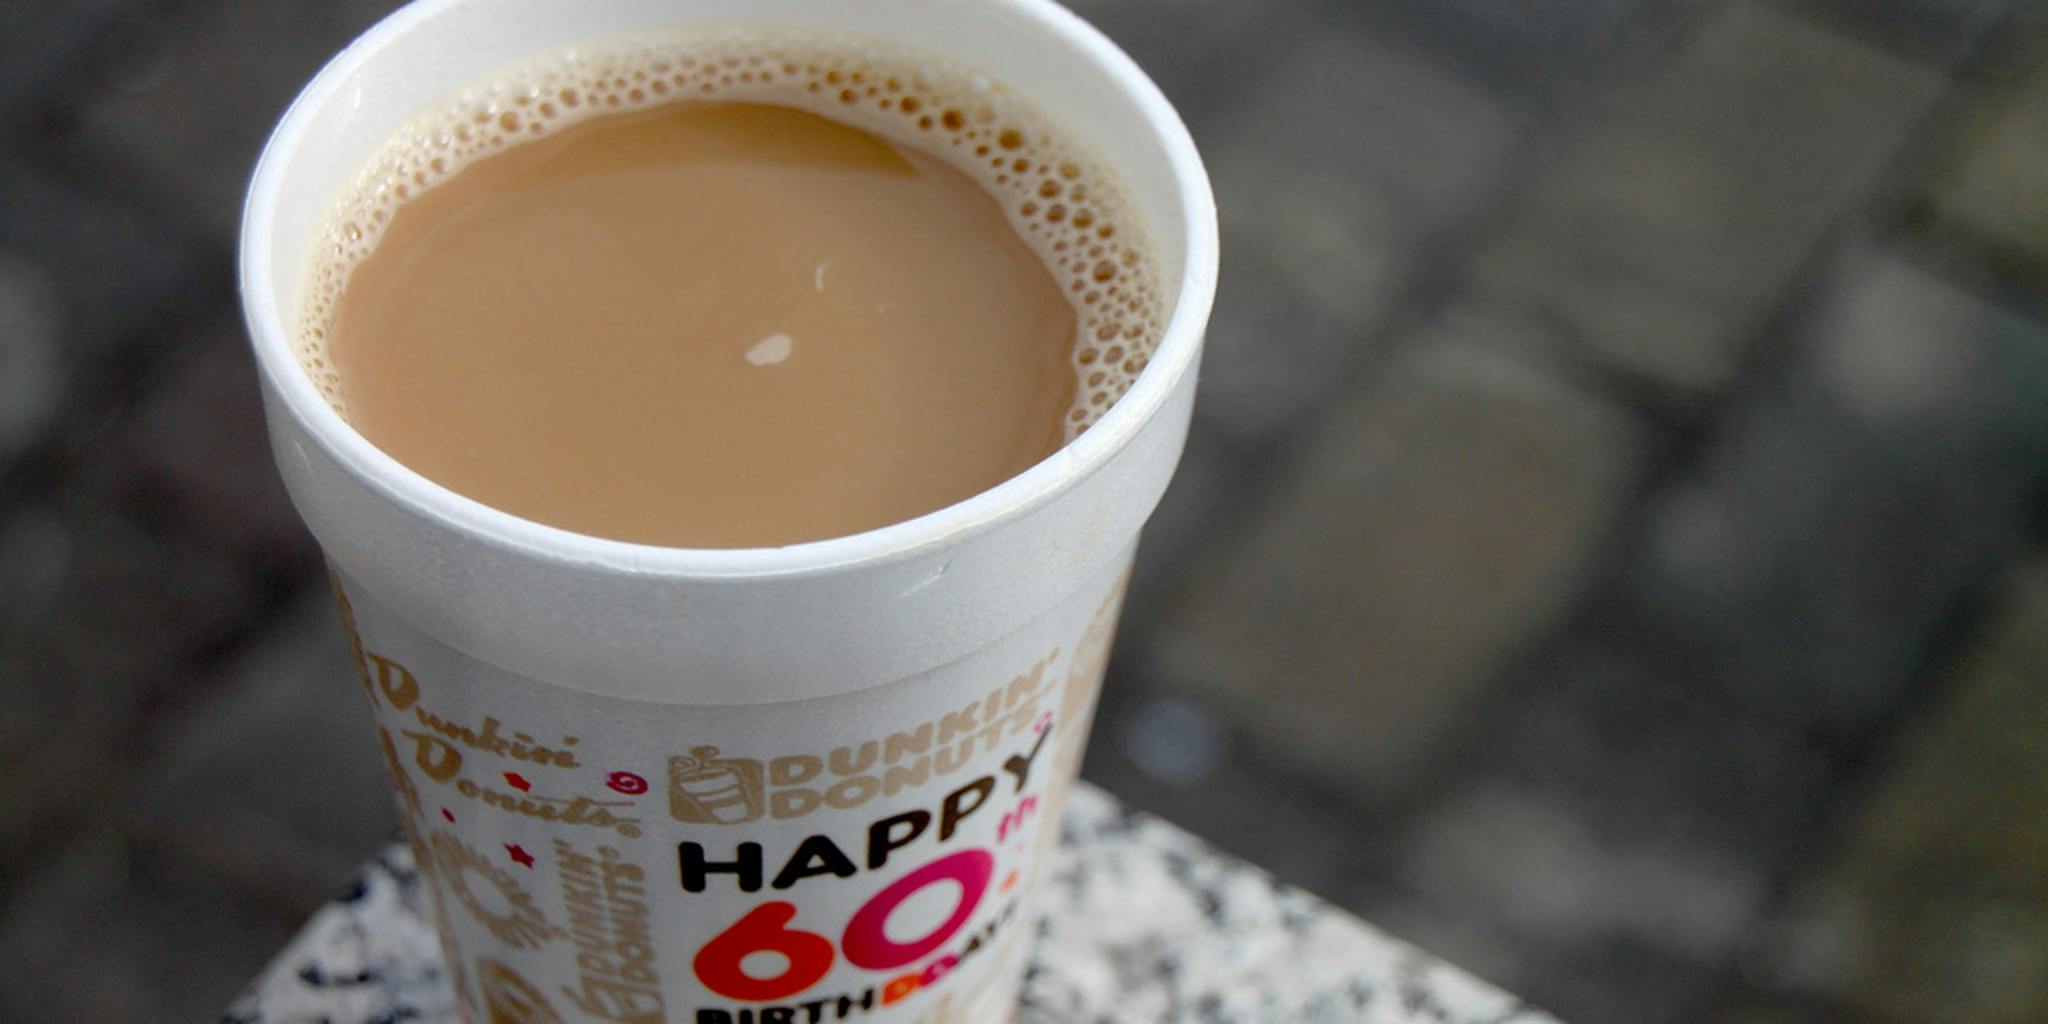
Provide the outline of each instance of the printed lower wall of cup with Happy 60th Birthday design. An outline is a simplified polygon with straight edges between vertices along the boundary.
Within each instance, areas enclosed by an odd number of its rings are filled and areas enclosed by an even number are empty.
[[[621,754],[625,719],[551,717],[432,657],[416,674],[365,647],[426,889],[461,932],[451,981],[471,1020],[981,1024],[975,991],[1026,948],[1022,899],[1057,836],[1114,606],[918,719],[809,748],[762,733],[780,750],[633,719],[649,739],[684,733],[653,758]],[[662,846],[674,860],[645,860]],[[659,928],[680,907],[688,940]]]

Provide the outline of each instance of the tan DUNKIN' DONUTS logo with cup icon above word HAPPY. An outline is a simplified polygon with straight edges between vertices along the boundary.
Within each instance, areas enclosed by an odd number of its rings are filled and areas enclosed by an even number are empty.
[[[877,797],[920,791],[1012,737],[1044,729],[1044,674],[1059,649],[987,696],[883,737],[815,754],[729,758],[713,745],[668,760],[668,813],[690,825],[745,825],[850,811]]]

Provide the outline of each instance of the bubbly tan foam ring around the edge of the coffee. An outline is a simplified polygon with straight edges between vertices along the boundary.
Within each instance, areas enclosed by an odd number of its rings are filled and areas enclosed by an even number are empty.
[[[578,47],[414,117],[342,188],[303,289],[297,354],[336,408],[328,330],[348,274],[397,207],[475,160],[592,117],[690,100],[774,102],[893,137],[975,178],[1075,309],[1067,440],[1145,369],[1165,313],[1135,207],[1106,168],[985,76],[870,39],[725,29]]]

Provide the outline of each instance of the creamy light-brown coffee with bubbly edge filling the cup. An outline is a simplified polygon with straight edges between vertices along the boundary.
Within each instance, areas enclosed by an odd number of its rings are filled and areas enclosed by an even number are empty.
[[[1120,186],[971,72],[717,33],[508,72],[338,203],[299,352],[371,442],[539,522],[770,547],[1085,430],[1161,311]]]

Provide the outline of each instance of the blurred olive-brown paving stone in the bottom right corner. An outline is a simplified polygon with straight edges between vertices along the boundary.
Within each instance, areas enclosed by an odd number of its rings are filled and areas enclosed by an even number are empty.
[[[1745,963],[1864,1020],[2021,1024],[2048,1008],[2048,563],[1948,674]]]

